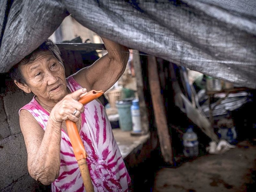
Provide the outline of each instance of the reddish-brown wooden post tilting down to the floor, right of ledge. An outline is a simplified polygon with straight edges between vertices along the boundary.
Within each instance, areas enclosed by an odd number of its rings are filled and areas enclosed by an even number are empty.
[[[156,58],[148,56],[148,82],[156,119],[157,134],[159,137],[161,152],[166,163],[173,164],[171,137],[164,110],[164,101],[161,95],[160,82],[156,64]]]

